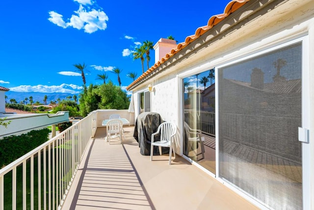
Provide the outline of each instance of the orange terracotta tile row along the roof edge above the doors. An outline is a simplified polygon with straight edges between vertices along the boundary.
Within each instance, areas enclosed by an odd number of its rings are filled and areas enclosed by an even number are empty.
[[[206,31],[210,30],[212,27],[220,23],[222,20],[224,20],[226,17],[228,17],[231,13],[235,12],[238,8],[243,6],[246,2],[250,0],[231,0],[226,8],[223,14],[213,15],[209,18],[209,21],[207,23],[207,26],[199,27],[195,34],[187,36],[185,38],[184,42],[181,42],[177,45],[176,48],[172,49],[169,53],[166,54],[165,57],[161,58],[161,60],[158,60],[152,67],[150,67],[146,72],[144,72],[140,77],[138,77],[135,81],[133,81],[128,87],[127,90],[129,90],[133,85],[141,81],[143,78],[145,78],[147,75],[149,75],[151,72],[153,72],[158,66],[160,66],[163,62],[180,52],[183,48],[185,48],[189,43],[195,41],[198,37],[203,35]]]

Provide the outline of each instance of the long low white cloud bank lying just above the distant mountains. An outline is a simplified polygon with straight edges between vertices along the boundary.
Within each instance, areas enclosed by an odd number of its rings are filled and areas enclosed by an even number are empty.
[[[16,92],[64,92],[64,93],[73,93],[77,94],[82,90],[81,86],[73,85],[73,84],[61,84],[59,86],[47,86],[47,85],[36,85],[36,86],[28,86],[21,85],[18,87],[10,88],[12,91]]]

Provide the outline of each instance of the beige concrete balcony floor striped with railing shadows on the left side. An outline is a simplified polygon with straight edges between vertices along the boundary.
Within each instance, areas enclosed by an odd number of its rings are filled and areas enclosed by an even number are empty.
[[[256,206],[177,155],[141,155],[133,126],[126,140],[105,142],[98,128],[63,210],[256,210]]]

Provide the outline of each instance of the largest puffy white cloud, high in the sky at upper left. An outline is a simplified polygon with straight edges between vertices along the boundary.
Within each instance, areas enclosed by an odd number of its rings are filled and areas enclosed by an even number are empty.
[[[79,3],[92,4],[91,0],[77,0]],[[106,21],[109,20],[108,16],[101,9],[94,9],[90,7],[84,7],[79,4],[77,11],[71,16],[69,21],[66,23],[62,19],[62,15],[54,11],[49,12],[50,18],[48,20],[57,26],[62,28],[73,27],[75,29],[84,29],[86,33],[93,33],[97,30],[105,30],[107,28]]]

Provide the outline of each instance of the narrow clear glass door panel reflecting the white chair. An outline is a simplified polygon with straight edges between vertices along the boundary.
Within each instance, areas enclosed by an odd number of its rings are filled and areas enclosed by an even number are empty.
[[[215,173],[214,69],[183,79],[183,154]]]

